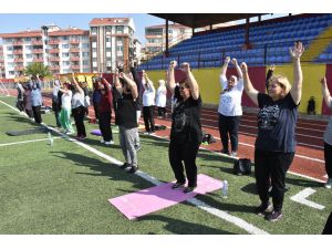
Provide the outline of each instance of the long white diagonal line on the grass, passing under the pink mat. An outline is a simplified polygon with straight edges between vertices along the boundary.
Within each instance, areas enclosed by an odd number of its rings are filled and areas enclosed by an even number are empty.
[[[12,106],[10,106],[10,107],[12,110],[19,112],[14,107],[12,107]],[[48,126],[46,124],[41,124],[41,125],[44,126],[44,127],[46,127],[46,128],[49,128],[49,129],[51,129],[51,131],[53,131],[58,135],[61,135],[62,137],[68,138],[70,142],[72,142],[72,143],[74,143],[74,144],[76,144],[76,145],[79,145],[79,146],[87,149],[89,152],[94,153],[95,155],[97,155],[97,156],[100,156],[100,157],[102,157],[102,158],[111,162],[112,164],[115,164],[115,165],[118,165],[118,166],[123,165],[123,162],[117,160],[117,159],[115,159],[115,158],[113,158],[113,157],[111,157],[111,156],[108,156],[108,155],[106,155],[106,154],[104,154],[104,153],[102,153],[102,152],[100,152],[100,151],[97,151],[97,149],[95,149],[95,148],[93,148],[93,147],[91,147],[91,146],[82,143],[82,142],[79,142],[79,141],[76,141],[74,138],[71,138],[70,136],[60,133],[58,129]],[[142,178],[148,180],[152,184],[155,184],[155,185],[162,184],[162,181],[157,180],[156,178],[154,178],[154,177],[147,175],[146,173],[141,172],[141,170],[137,170],[135,174],[138,175],[138,176],[141,176]],[[216,216],[216,217],[218,217],[220,219],[224,219],[224,220],[226,220],[226,221],[228,221],[228,222],[230,222],[230,224],[232,224],[232,225],[235,225],[235,226],[237,226],[239,228],[242,228],[243,230],[246,230],[247,232],[249,232],[251,235],[269,235],[267,231],[261,230],[261,229],[255,227],[253,225],[248,224],[247,221],[245,221],[245,220],[242,220],[242,219],[240,219],[240,218],[238,218],[236,216],[229,215],[226,211],[222,211],[222,210],[219,210],[217,208],[214,208],[214,207],[209,206],[208,204],[206,204],[206,203],[204,203],[201,200],[198,200],[196,198],[191,198],[191,199],[189,199],[187,201],[189,201],[190,204],[193,204],[195,207],[198,207],[198,208],[200,208],[200,209],[203,209],[203,210],[205,210],[205,211],[207,211],[207,212],[209,212],[209,214],[211,214],[211,215],[214,215],[214,216]]]

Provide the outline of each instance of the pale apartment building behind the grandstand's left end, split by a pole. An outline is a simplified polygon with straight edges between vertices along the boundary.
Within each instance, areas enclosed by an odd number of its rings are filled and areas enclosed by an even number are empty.
[[[180,24],[168,25],[168,45],[173,46],[193,35],[191,28]],[[155,54],[166,49],[166,25],[151,25],[145,28],[145,52]]]

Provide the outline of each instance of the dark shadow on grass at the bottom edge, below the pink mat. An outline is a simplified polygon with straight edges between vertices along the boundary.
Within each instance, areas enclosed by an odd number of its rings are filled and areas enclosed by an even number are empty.
[[[234,235],[232,232],[207,227],[200,224],[187,222],[159,215],[149,215],[138,220],[156,220],[167,222],[163,228],[176,235]],[[148,235],[156,235],[154,231]]]

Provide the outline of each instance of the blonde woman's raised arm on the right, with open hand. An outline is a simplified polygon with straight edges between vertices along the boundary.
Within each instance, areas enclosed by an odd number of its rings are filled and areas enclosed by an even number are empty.
[[[300,104],[301,96],[302,96],[302,81],[303,74],[300,63],[300,58],[304,52],[304,46],[302,42],[295,42],[293,49],[290,49],[290,55],[293,59],[293,68],[294,68],[294,83],[290,90],[290,94],[293,98],[293,102],[298,105]]]

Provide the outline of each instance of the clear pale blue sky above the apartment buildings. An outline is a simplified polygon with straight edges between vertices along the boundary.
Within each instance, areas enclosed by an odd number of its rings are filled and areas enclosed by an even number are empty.
[[[165,20],[145,13],[0,13],[0,33],[14,33],[27,29],[37,30],[44,24],[56,24],[62,29],[70,25],[89,30],[93,18],[133,18],[135,35],[144,44],[145,27],[164,24]]]

